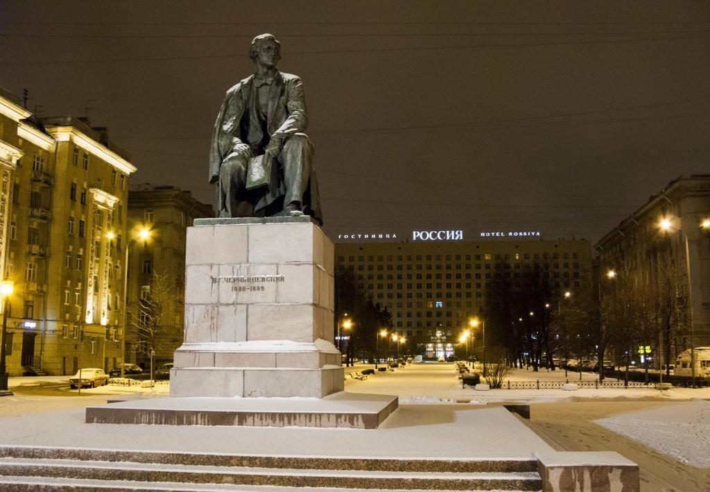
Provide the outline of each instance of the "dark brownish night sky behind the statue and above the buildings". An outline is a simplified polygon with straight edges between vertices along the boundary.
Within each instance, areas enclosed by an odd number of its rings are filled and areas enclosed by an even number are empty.
[[[327,232],[595,241],[710,173],[710,1],[8,1],[0,86],[83,116],[140,183],[212,203],[253,36],[300,75]]]

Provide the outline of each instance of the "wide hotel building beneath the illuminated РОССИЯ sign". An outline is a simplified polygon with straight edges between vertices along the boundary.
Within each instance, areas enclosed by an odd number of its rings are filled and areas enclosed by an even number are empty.
[[[353,269],[374,302],[386,306],[410,353],[448,357],[469,319],[479,316],[492,281],[525,284],[536,265],[559,289],[579,287],[591,272],[586,240],[530,238],[455,240],[429,234],[425,242],[337,242],[337,269]]]

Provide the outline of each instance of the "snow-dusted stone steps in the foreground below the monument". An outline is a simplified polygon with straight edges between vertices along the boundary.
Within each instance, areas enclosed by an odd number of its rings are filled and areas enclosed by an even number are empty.
[[[24,446],[0,446],[0,456],[3,491],[116,490],[126,480],[133,484],[125,490],[146,491],[225,490],[224,486],[388,491],[542,488],[532,460],[224,456]]]

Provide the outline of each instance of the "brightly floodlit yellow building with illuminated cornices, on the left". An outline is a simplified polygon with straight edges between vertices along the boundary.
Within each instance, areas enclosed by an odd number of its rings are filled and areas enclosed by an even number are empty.
[[[136,168],[107,129],[33,119],[4,91],[0,121],[0,268],[15,286],[8,372],[108,370],[121,357],[121,237]]]

